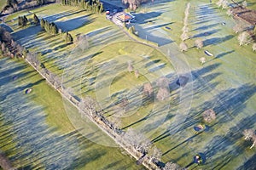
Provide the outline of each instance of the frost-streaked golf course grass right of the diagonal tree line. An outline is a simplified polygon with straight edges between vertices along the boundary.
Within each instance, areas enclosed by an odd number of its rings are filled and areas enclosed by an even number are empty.
[[[157,42],[160,48],[131,41],[104,15],[56,4],[20,14],[32,17],[36,13],[39,18],[55,21],[73,37],[86,34],[89,46],[85,49],[67,45],[61,35],[51,37],[39,26],[20,29],[16,21],[9,23],[15,29],[15,39],[41,52],[41,61],[62,77],[65,87],[73,88],[79,97],[96,99],[99,108],[106,111],[104,116],[119,122],[120,128],[132,127],[144,133],[162,151],[161,161],[174,161],[189,169],[248,169],[254,165],[255,148],[249,149],[242,131],[256,127],[255,53],[250,45],[238,45],[232,31],[236,21],[203,0],[190,2],[190,39],[185,41],[189,51],[181,53],[178,45],[188,2],[155,1],[135,14],[137,22],[133,25],[139,36]],[[247,2],[254,8],[253,1]],[[10,15],[9,20],[20,14]],[[79,24],[73,25],[73,21]],[[204,41],[201,50],[194,47],[196,38]],[[207,56],[204,50],[214,56]],[[206,64],[201,65],[201,57],[207,58]],[[138,78],[127,70],[128,61],[139,71]],[[190,76],[183,88],[176,83],[176,71],[178,76]],[[170,96],[161,102],[155,97],[156,80],[163,76],[169,80]],[[146,82],[154,88],[152,98],[143,94]],[[205,124],[201,113],[207,109],[217,113],[217,120],[206,124],[207,131],[195,133],[195,126]],[[190,164],[197,153],[206,156],[201,167]]]

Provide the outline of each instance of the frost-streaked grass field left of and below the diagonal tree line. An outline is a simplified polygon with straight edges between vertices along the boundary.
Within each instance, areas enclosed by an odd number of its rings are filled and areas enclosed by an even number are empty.
[[[0,149],[14,167],[143,169],[118,148],[95,144],[76,132],[60,94],[30,66],[3,58],[0,63]],[[25,94],[26,88],[32,93]],[[80,115],[64,103],[73,115]]]

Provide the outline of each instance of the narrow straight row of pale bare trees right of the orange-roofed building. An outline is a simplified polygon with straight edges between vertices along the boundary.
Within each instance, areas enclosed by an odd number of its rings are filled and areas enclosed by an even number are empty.
[[[188,32],[189,32],[189,28],[188,28],[188,22],[189,22],[189,8],[190,8],[190,3],[187,4],[187,8],[185,9],[185,17],[184,17],[184,20],[183,20],[183,33],[182,35],[180,36],[182,42],[180,43],[179,45],[179,48],[181,51],[187,51],[188,50],[188,45],[184,42],[185,40],[189,39],[189,35],[188,35]]]

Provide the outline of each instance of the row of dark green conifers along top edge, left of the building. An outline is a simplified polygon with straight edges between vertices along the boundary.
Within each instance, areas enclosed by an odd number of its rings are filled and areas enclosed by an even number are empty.
[[[79,6],[97,14],[101,14],[104,10],[103,3],[100,3],[100,0],[61,0],[58,2],[63,5]]]

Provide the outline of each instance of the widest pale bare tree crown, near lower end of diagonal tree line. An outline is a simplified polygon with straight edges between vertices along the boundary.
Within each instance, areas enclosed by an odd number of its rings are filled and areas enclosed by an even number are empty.
[[[143,154],[148,152],[149,148],[151,147],[150,140],[148,140],[142,133],[137,133],[132,128],[127,130],[123,139],[128,144],[131,144],[131,147],[134,148],[134,150],[137,150]]]

